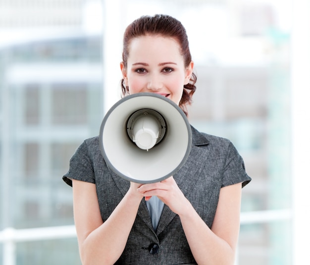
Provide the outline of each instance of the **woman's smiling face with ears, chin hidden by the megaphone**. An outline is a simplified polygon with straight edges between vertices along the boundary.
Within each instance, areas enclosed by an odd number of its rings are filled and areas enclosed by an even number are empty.
[[[180,45],[174,39],[151,35],[131,41],[127,68],[121,63],[121,70],[129,94],[157,93],[179,105],[193,65],[191,62],[185,68]]]

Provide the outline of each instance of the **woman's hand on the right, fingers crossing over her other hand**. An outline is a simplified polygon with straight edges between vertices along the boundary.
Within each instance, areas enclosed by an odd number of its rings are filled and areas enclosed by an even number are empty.
[[[184,206],[188,202],[173,176],[161,182],[143,184],[138,191],[143,194],[146,201],[152,196],[157,196],[172,212],[177,214],[184,211]]]

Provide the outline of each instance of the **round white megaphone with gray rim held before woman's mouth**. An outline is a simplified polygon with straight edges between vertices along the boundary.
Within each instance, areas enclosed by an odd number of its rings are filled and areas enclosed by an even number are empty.
[[[183,110],[155,93],[126,96],[106,113],[100,149],[107,166],[120,177],[155,183],[185,163],[192,131]]]

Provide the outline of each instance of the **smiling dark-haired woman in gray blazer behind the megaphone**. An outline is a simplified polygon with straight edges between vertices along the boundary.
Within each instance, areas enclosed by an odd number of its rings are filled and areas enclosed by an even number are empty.
[[[196,90],[193,67],[178,20],[143,16],[127,27],[123,96],[157,93],[186,113]],[[234,264],[241,189],[251,178],[226,139],[192,128],[185,165],[174,176],[142,185],[108,169],[94,137],[78,148],[63,179],[73,187],[83,265]]]

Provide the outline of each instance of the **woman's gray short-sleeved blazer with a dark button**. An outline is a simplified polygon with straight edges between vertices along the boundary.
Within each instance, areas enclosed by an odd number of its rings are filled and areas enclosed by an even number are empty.
[[[211,227],[221,187],[235,183],[245,186],[251,178],[243,159],[232,143],[220,137],[200,133],[192,127],[192,148],[186,163],[174,179],[186,198]],[[96,183],[100,211],[105,221],[129,189],[130,183],[105,164],[99,138],[87,139],[70,159],[63,180]],[[187,243],[180,218],[164,206],[155,231],[146,203],[142,200],[128,237],[127,245],[115,264],[177,265],[196,264]]]

